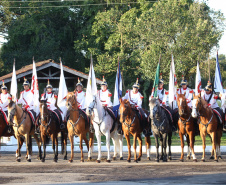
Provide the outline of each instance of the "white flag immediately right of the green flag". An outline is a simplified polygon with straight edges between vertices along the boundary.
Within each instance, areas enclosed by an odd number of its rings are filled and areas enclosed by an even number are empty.
[[[176,74],[175,74],[175,66],[174,66],[174,58],[172,55],[171,65],[170,65],[170,76],[169,76],[169,106],[171,109],[176,108],[175,106],[175,94],[176,89],[175,85],[177,84]]]

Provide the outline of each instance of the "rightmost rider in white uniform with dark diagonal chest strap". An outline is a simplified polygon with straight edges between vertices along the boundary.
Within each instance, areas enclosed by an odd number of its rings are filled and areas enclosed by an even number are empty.
[[[226,126],[224,125],[224,113],[217,104],[218,96],[213,92],[213,86],[211,82],[208,81],[205,89],[201,91],[201,97],[208,103],[208,106],[213,109],[213,112],[217,116],[218,122],[222,124],[225,129]]]

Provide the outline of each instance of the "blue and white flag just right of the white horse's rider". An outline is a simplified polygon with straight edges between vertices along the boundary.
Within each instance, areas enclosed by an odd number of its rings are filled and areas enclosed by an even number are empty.
[[[113,106],[119,106],[119,99],[122,97],[122,77],[120,71],[120,62],[118,61],[118,69],[115,79],[115,92],[114,92],[114,102]]]

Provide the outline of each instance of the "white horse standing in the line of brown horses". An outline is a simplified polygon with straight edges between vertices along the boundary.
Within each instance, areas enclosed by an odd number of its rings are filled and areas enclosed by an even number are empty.
[[[101,135],[106,136],[106,146],[107,146],[107,162],[111,162],[110,156],[110,138],[112,138],[114,144],[114,156],[113,160],[117,157],[117,149],[119,149],[120,160],[123,160],[122,148],[123,148],[123,135],[118,135],[117,128],[118,124],[115,123],[114,130],[110,133],[113,126],[113,119],[108,114],[108,112],[102,106],[98,96],[93,96],[93,101],[89,104],[86,109],[86,114],[91,117],[91,122],[93,123],[95,135],[98,143],[98,158],[97,162],[100,163],[101,160]],[[91,150],[89,151],[89,156],[91,156]]]

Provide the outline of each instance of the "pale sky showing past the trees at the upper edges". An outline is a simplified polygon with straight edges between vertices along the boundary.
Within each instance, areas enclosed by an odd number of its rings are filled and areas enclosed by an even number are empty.
[[[198,0],[198,1],[203,1],[203,0]],[[226,17],[226,0],[205,0],[207,4],[210,6],[210,8],[214,10],[220,10],[224,16]],[[226,20],[225,20],[226,24]],[[0,47],[1,47],[1,42],[6,42],[6,40],[3,40],[0,37]],[[219,41],[219,48],[213,48],[211,55],[214,56],[216,53],[216,50],[218,49],[219,54],[224,54],[226,55],[226,33],[224,32],[224,35],[222,36],[221,40]]]

